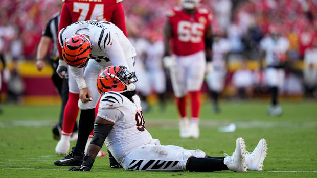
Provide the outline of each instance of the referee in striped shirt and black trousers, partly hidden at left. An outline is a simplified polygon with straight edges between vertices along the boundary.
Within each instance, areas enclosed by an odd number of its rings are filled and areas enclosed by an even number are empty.
[[[60,1],[61,2],[61,1]],[[68,80],[62,79],[56,73],[56,68],[58,66],[59,54],[57,50],[57,32],[58,32],[58,24],[60,19],[60,12],[56,13],[51,17],[48,21],[46,28],[42,32],[42,37],[40,43],[37,47],[37,55],[36,55],[36,68],[38,71],[41,71],[45,67],[45,63],[43,61],[46,56],[50,43],[53,40],[53,50],[50,55],[50,63],[53,67],[53,75],[52,80],[53,83],[58,90],[58,93],[62,99],[62,107],[59,116],[59,123],[53,127],[53,135],[54,139],[59,140],[62,130],[63,117],[64,117],[64,108],[66,106],[68,100]],[[77,131],[77,124],[74,126],[74,131]]]

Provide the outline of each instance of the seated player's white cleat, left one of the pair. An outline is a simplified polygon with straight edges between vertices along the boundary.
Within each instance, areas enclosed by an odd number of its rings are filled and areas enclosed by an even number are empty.
[[[236,150],[231,156],[224,154],[223,163],[227,165],[229,170],[235,172],[246,172],[247,166],[245,162],[245,142],[239,137],[236,140]]]

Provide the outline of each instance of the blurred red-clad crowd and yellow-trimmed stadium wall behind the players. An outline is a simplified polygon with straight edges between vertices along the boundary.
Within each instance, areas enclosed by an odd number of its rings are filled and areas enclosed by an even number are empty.
[[[141,38],[162,38],[162,28],[166,10],[177,1],[123,1],[129,35],[138,34]],[[47,65],[41,72],[36,70],[36,49],[41,31],[47,20],[59,11],[56,1],[9,1],[0,2],[0,38],[2,53],[11,73],[20,76],[20,103],[56,103],[59,102],[50,76],[52,68]],[[317,2],[307,1],[201,1],[201,6],[211,10],[214,34],[222,35],[234,41],[230,52],[229,74],[222,96],[233,96],[231,78],[241,67],[242,59],[247,59],[247,67],[254,72],[253,97],[262,97],[267,91],[258,88],[260,39],[268,33],[269,27],[278,24],[280,33],[290,41],[288,59],[292,66],[287,72],[282,89],[283,96],[301,98],[305,92],[301,71],[305,50],[312,47],[316,40]],[[2,66],[1,66],[2,67]],[[19,82],[19,81],[17,81]],[[11,82],[12,83],[12,82]],[[7,98],[8,83],[2,81],[1,99]],[[14,87],[14,85],[13,85]],[[202,87],[207,92],[207,85]],[[169,91],[171,89],[169,88]]]

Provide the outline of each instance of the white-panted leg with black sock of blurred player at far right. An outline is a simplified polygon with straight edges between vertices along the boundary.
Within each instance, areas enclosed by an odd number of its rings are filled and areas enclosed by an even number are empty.
[[[279,116],[282,114],[282,108],[278,103],[279,86],[281,83],[279,70],[273,67],[266,69],[266,79],[271,92],[271,104],[268,107],[268,113],[271,116]]]

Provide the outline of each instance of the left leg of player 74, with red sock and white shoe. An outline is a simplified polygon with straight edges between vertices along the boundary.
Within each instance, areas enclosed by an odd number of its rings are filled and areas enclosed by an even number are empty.
[[[71,73],[67,82],[69,86],[69,98],[64,109],[62,135],[55,147],[55,152],[60,155],[65,155],[69,151],[71,135],[79,112],[79,88]]]

